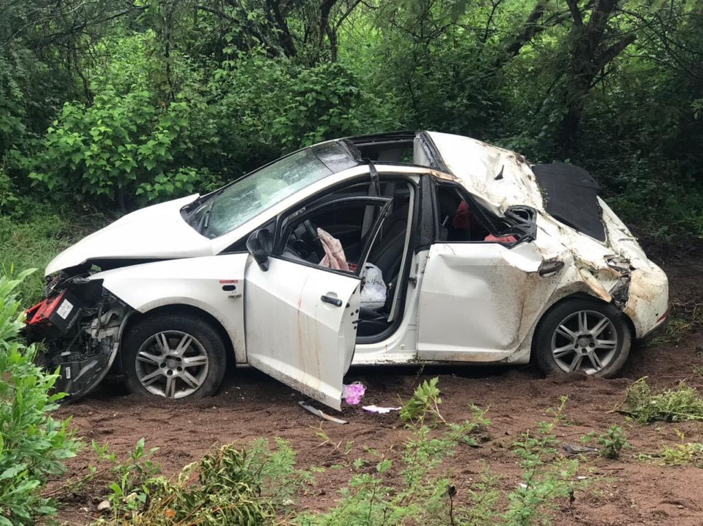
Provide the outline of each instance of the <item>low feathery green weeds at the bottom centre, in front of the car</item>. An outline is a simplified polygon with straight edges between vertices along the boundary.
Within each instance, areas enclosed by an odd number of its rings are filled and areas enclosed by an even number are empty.
[[[436,387],[436,382],[434,387]],[[413,434],[405,444],[399,463],[373,449],[373,460],[357,458],[356,472],[347,487],[340,490],[342,500],[328,513],[299,515],[299,525],[339,524],[418,524],[482,525],[498,517],[496,480],[488,474],[468,489],[471,506],[454,506],[457,489],[451,474],[442,473],[443,461],[463,445],[475,447],[472,435],[484,432],[490,421],[485,411],[472,406],[472,419],[462,424],[450,423],[441,432],[423,423],[419,417]],[[401,481],[389,485],[389,477]]]

